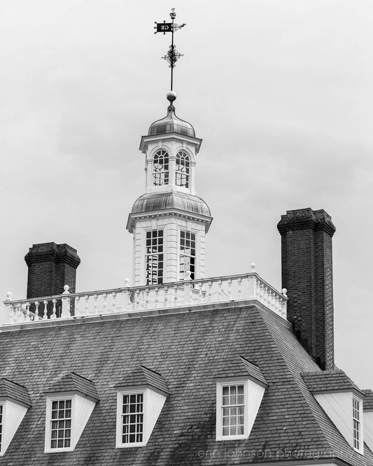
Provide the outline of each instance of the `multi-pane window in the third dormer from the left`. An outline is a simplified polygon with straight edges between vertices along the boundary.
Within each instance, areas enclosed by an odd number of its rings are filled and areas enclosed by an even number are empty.
[[[122,395],[122,444],[143,442],[143,393]]]

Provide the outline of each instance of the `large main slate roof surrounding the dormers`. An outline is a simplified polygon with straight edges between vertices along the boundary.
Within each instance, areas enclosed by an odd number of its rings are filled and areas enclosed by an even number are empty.
[[[2,375],[27,386],[32,402],[0,466],[244,465],[315,454],[321,463],[373,465],[368,447],[364,456],[353,451],[307,388],[300,372],[319,369],[290,325],[263,306],[220,303],[24,329],[0,332]],[[216,378],[247,375],[241,357],[268,386],[250,437],[216,442]],[[162,374],[170,395],[146,446],[115,449],[115,386],[141,366]],[[74,451],[43,453],[43,392],[71,371],[94,382],[100,402]]]

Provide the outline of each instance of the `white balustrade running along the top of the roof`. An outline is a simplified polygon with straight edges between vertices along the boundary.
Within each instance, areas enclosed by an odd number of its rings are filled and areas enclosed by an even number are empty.
[[[203,234],[203,230],[200,230],[200,234]],[[202,257],[201,249],[199,255]],[[141,264],[141,255],[139,255],[139,264]],[[199,262],[199,267],[201,269],[204,267],[202,260]],[[46,300],[48,302],[59,301],[62,297],[66,298],[68,296],[69,305],[71,306],[74,299],[79,298],[80,315],[75,316],[75,318],[87,318],[105,313],[105,303],[107,313],[128,313],[174,306],[201,306],[202,304],[227,302],[235,299],[236,301],[258,302],[281,316],[281,318],[286,319],[286,304],[288,301],[286,295],[269,285],[257,274],[255,267],[253,265],[251,267],[252,271],[248,274],[197,278],[193,281],[173,281],[164,285],[130,287],[129,280],[126,278],[123,288],[56,295]],[[167,299],[165,299],[166,295]],[[40,316],[38,318],[29,311],[31,304],[34,304],[36,300],[35,298],[7,300],[4,302],[3,316],[5,318],[3,318],[3,324],[0,324],[1,330],[4,331],[11,325],[24,325],[27,323],[33,325],[36,320],[40,320]],[[113,302],[115,302],[115,306],[113,306]],[[70,309],[68,313],[69,316],[72,315]],[[59,316],[50,316],[48,320],[43,320],[43,323],[50,323],[59,319],[61,319]]]

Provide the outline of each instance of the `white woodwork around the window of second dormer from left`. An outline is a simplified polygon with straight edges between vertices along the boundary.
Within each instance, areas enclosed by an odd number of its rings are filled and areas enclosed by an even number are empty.
[[[52,401],[71,400],[71,445],[66,448],[50,448],[50,424],[52,415]],[[52,393],[47,397],[45,412],[45,453],[58,453],[60,451],[73,451],[80,435],[90,418],[97,401],[76,392]]]

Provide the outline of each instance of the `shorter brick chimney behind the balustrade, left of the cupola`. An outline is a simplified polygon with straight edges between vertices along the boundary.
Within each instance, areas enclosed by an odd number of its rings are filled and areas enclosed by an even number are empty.
[[[34,244],[24,260],[29,267],[27,299],[61,295],[64,285],[69,285],[69,292],[75,292],[76,269],[80,264],[76,249],[68,244]]]

